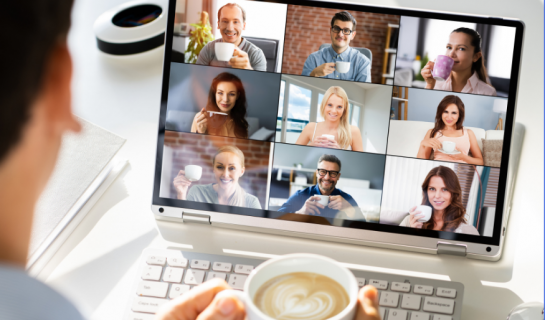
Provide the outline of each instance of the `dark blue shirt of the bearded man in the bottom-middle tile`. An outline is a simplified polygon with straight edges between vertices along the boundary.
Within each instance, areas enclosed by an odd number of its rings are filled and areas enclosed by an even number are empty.
[[[312,187],[307,187],[303,190],[297,191],[294,195],[292,195],[286,203],[282,205],[278,211],[280,212],[289,212],[289,213],[295,213],[297,210],[301,209],[303,205],[305,204],[305,201],[308,200],[308,198],[312,197],[313,195],[322,193],[320,192],[320,188],[318,188],[318,185],[314,185]],[[351,195],[349,195],[346,192],[343,192],[339,189],[333,190],[331,192],[330,196],[342,196],[344,200],[348,201],[356,211],[360,211],[360,208],[358,207],[358,204],[356,203],[356,200],[352,198]],[[320,216],[324,218],[335,218],[339,210],[331,209],[328,207],[325,207],[324,209],[318,209],[320,210]],[[363,216],[363,215],[361,215]]]

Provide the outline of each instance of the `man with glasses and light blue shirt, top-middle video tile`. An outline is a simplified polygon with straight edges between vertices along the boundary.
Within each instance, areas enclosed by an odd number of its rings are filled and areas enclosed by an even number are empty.
[[[305,61],[303,76],[327,79],[371,82],[371,61],[361,52],[350,47],[356,36],[356,19],[346,12],[337,12],[331,19],[331,46],[314,53]],[[340,73],[335,62],[350,62],[350,70]]]

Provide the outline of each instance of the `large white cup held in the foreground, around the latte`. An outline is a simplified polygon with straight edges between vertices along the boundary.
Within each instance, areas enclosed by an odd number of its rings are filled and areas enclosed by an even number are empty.
[[[295,253],[268,260],[252,271],[248,279],[246,279],[243,292],[225,290],[218,293],[216,297],[236,297],[244,304],[246,319],[248,320],[274,320],[272,317],[264,314],[254,304],[255,294],[267,281],[294,272],[317,273],[339,283],[348,294],[348,306],[328,320],[354,319],[359,291],[358,282],[354,274],[337,261],[316,254]],[[300,318],[303,319],[304,317]]]

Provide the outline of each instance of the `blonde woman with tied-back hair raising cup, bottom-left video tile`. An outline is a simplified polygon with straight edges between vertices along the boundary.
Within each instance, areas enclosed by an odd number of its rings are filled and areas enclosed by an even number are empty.
[[[212,159],[212,171],[216,183],[195,185],[191,189],[191,181],[180,170],[173,184],[177,199],[197,202],[224,204],[229,206],[261,209],[256,196],[246,193],[238,184],[244,175],[244,154],[235,146],[219,148]]]

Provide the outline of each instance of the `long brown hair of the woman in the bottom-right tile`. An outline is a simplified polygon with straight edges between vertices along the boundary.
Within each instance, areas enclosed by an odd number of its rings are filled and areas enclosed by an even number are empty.
[[[430,170],[422,183],[422,204],[433,208],[428,198],[428,186],[432,177],[443,179],[443,183],[450,192],[450,205],[443,214],[443,228],[441,228],[441,231],[454,231],[461,223],[466,222],[464,218],[466,209],[462,203],[462,188],[458,176],[451,168],[445,166],[438,166]],[[433,229],[434,226],[435,221],[432,213],[432,218],[422,225],[422,229]]]

